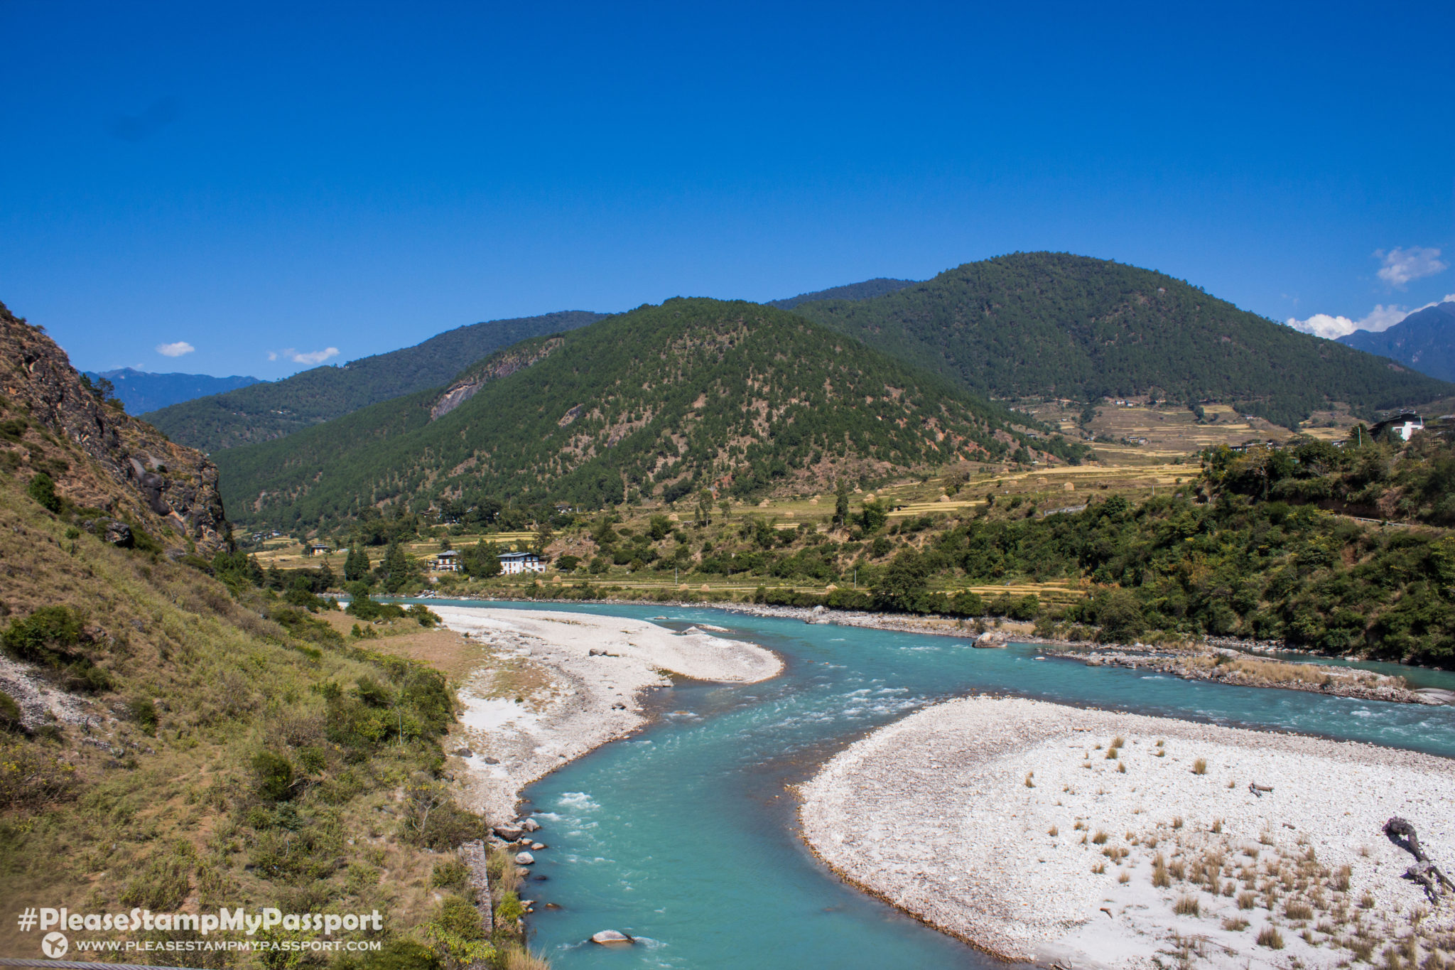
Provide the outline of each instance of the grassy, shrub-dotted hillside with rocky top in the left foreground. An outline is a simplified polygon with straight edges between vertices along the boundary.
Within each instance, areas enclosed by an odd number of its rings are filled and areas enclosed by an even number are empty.
[[[226,524],[201,529],[215,470],[93,396],[44,332],[3,307],[0,324],[6,359],[26,365],[0,372],[0,907],[378,909],[383,929],[351,935],[384,948],[332,966],[503,966],[518,935],[486,939],[454,854],[483,833],[448,794],[454,694],[390,650],[458,636],[415,611],[371,624],[365,649],[308,588],[262,588]],[[156,471],[135,471],[143,458]],[[77,954],[79,935],[244,938],[97,926],[71,934]],[[33,958],[41,937],[4,921],[0,954]]]

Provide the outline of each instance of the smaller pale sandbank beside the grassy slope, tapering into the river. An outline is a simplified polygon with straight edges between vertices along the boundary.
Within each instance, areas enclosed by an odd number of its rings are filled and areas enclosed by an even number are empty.
[[[482,644],[460,689],[464,713],[451,749],[461,800],[492,823],[515,817],[519,791],[572,758],[642,724],[640,694],[698,681],[755,684],[783,669],[770,650],[703,631],[575,612],[431,606]],[[665,672],[665,673],[663,673]]]

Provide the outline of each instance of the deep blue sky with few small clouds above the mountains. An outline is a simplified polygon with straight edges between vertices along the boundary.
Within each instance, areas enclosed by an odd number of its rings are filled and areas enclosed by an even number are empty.
[[[1039,249],[1379,326],[1455,292],[1452,28],[1445,3],[0,0],[0,300],[79,366],[265,378]]]

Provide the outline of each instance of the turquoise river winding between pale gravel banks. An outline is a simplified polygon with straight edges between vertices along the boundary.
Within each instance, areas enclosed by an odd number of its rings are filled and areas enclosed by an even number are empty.
[[[866,731],[952,697],[1014,694],[1455,756],[1449,707],[1225,686],[1087,668],[1030,646],[975,650],[954,637],[720,609],[445,602],[671,628],[707,622],[787,665],[764,684],[656,691],[650,726],[527,788],[525,807],[546,826],[537,838],[549,848],[522,896],[537,900],[533,948],[556,970],[1002,967],[845,886],[797,838],[790,785]],[[1455,686],[1455,675],[1419,673],[1422,685]],[[585,942],[599,929],[640,942]]]

